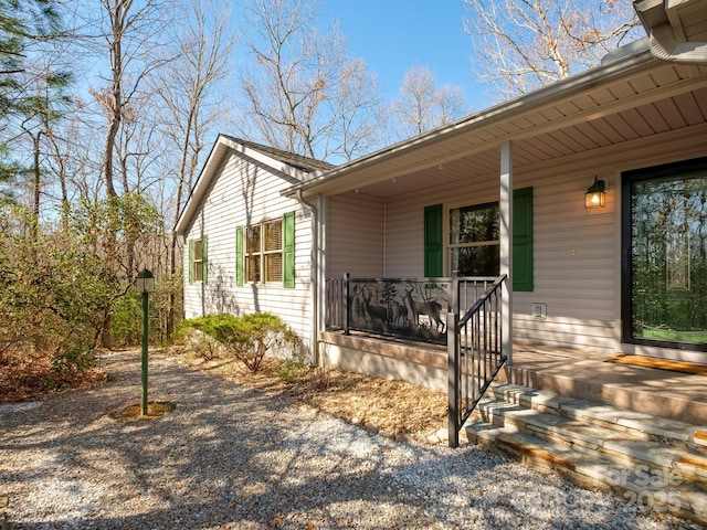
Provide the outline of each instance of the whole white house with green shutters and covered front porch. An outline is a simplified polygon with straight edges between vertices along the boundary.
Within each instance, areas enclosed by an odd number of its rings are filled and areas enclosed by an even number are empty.
[[[650,39],[593,70],[338,167],[220,136],[176,227],[186,316],[271,310],[323,356],[330,278],[507,274],[509,353],[707,363],[707,2],[675,3],[637,2]],[[386,330],[424,301],[381,293],[349,304]]]

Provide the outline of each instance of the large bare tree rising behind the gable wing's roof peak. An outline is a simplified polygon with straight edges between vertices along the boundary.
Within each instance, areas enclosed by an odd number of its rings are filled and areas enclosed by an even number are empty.
[[[349,159],[369,147],[363,121],[379,103],[377,87],[365,63],[348,57],[336,24],[317,31],[318,8],[318,0],[253,0],[245,33],[255,64],[242,73],[253,130],[245,132],[312,158]]]

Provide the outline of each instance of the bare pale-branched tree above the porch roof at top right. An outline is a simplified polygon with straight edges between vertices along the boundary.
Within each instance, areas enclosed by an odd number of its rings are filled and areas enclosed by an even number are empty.
[[[464,0],[474,44],[472,66],[507,99],[599,64],[635,39],[637,18],[626,0]]]

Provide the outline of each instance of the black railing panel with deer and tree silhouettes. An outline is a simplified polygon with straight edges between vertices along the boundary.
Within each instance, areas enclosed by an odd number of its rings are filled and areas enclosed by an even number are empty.
[[[345,331],[446,344],[449,278],[345,278]]]

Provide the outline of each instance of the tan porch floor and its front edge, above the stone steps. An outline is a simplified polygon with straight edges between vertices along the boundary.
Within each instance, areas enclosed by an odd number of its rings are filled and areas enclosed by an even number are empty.
[[[366,351],[390,361],[397,359],[425,370],[433,368],[436,377],[446,381],[446,349],[441,346],[363,333],[347,337],[340,332],[324,332],[320,340],[331,346]],[[500,370],[497,381],[707,425],[707,373],[704,365],[696,365],[703,369],[701,372],[695,370],[698,373],[686,373],[612,362],[613,358],[611,353],[584,349],[515,343],[514,363]],[[344,368],[357,370],[361,365]],[[408,373],[430,373],[425,370],[409,370]],[[378,374],[408,379],[390,373]],[[425,384],[420,380],[411,382]]]

